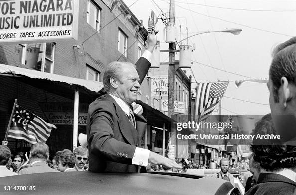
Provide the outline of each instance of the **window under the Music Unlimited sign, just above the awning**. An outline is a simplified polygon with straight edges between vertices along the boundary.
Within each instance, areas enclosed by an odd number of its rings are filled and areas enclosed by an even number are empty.
[[[53,73],[54,43],[29,43],[16,45],[19,62],[30,69]]]

